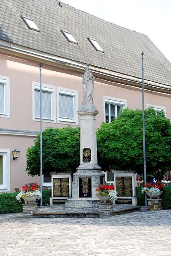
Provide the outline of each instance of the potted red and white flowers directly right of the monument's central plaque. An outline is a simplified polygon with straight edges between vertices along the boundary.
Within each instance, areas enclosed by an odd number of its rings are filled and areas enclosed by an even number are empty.
[[[112,185],[103,185],[97,186],[97,197],[100,201],[115,201],[117,199],[118,193],[114,190]]]

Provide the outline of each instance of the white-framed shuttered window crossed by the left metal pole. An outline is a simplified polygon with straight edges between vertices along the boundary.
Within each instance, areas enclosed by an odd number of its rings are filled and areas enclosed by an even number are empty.
[[[42,84],[42,120],[56,122],[56,88],[54,85]],[[40,85],[32,82],[32,119],[40,120]]]

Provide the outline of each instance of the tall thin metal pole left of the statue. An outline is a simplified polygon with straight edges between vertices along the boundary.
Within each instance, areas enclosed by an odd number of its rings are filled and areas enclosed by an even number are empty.
[[[43,157],[42,157],[42,94],[41,94],[41,67],[43,66],[42,63],[39,63],[38,66],[40,67],[40,190],[41,190],[41,200],[40,205],[43,205]]]

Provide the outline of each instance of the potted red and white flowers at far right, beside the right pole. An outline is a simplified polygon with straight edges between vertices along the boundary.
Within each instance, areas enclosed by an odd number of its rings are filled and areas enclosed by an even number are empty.
[[[142,188],[142,193],[146,193],[150,198],[159,198],[162,195],[163,187],[164,184],[154,179],[145,184],[144,188]]]

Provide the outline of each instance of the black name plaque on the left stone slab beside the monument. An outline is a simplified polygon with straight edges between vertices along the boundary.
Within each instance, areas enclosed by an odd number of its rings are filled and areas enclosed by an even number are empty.
[[[53,178],[53,197],[69,197],[69,178]]]

